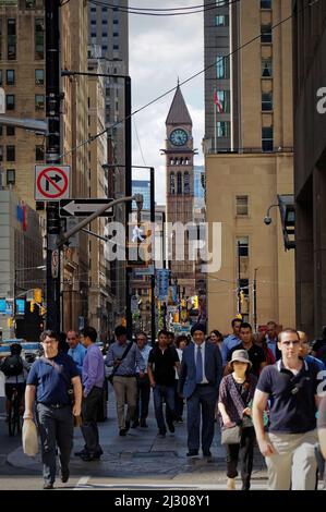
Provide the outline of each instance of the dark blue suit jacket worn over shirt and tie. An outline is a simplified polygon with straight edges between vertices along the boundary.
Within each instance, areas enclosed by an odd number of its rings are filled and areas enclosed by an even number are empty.
[[[179,393],[189,399],[196,389],[195,345],[188,345],[182,354],[182,363],[179,378]],[[213,343],[205,343],[205,375],[210,386],[218,391],[222,378],[222,362],[220,350]]]

